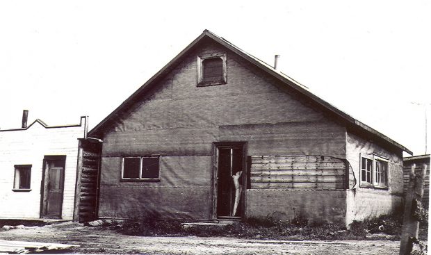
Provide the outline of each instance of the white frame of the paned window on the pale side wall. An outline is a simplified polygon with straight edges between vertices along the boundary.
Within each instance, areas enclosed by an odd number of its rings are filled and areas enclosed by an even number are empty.
[[[360,183],[359,183],[359,187],[361,188],[379,188],[379,189],[389,189],[389,159],[388,158],[384,158],[382,156],[378,156],[375,154],[372,155],[366,155],[366,154],[361,154],[359,157],[359,178],[360,178]],[[368,181],[362,181],[362,158],[366,158],[369,161],[372,162],[371,164],[371,180],[370,182]],[[384,172],[382,172],[382,182],[377,182],[377,163],[386,165],[386,170],[384,170]]]

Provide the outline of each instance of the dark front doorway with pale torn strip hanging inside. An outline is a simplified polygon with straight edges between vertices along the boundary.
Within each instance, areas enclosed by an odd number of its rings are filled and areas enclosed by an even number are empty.
[[[217,217],[243,215],[243,183],[245,171],[243,145],[217,147]]]

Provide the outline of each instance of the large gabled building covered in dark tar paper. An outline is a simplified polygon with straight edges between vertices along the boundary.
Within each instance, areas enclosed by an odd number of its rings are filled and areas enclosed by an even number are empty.
[[[402,151],[204,31],[97,124],[100,218],[342,222],[402,199]]]

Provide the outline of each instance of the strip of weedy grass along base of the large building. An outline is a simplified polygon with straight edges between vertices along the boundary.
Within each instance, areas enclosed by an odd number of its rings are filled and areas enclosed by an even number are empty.
[[[184,222],[184,221],[183,221]],[[126,220],[118,231],[134,236],[227,236],[236,238],[279,240],[400,240],[402,215],[383,215],[371,220],[342,224],[309,223],[302,217],[277,220],[275,217],[249,218],[225,226],[204,225],[184,229],[181,221],[161,220],[149,214],[141,219]],[[420,240],[427,240],[428,226],[421,227]],[[375,234],[375,235],[373,235]]]

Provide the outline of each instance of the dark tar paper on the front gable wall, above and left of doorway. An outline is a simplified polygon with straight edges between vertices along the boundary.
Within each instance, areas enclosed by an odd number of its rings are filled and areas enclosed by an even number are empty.
[[[248,155],[345,158],[344,126],[280,90],[277,81],[231,51],[201,46],[104,133],[99,217],[158,211],[209,219],[213,142],[247,142]],[[198,88],[197,56],[213,52],[227,53],[227,84]],[[161,155],[160,182],[120,181],[122,156],[152,154]],[[250,206],[261,207],[261,199],[272,198],[250,199]]]

